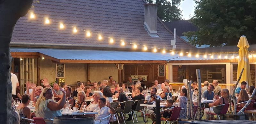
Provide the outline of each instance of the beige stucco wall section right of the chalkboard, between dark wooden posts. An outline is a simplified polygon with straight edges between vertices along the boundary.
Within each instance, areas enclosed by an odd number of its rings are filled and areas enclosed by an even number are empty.
[[[118,69],[115,64],[90,64],[89,74],[92,82],[109,80],[109,76],[118,82]]]

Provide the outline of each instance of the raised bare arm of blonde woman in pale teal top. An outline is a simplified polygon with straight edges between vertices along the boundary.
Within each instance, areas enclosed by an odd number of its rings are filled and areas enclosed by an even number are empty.
[[[66,100],[66,92],[63,91],[63,89],[60,89],[60,91],[63,93],[61,99],[58,102],[54,102],[51,101],[47,104],[47,107],[51,110],[51,111],[57,111],[60,110],[64,107],[65,105],[65,100]]]

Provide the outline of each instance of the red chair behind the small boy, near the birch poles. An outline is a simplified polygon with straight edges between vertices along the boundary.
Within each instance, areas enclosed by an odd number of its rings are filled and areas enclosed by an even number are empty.
[[[180,116],[181,107],[172,107],[172,108],[168,108],[167,110],[169,110],[169,109],[173,109],[170,118],[161,117],[161,121],[163,123],[164,123],[164,121],[166,121],[165,123],[167,123],[167,124],[169,124],[168,121],[170,121],[170,123],[174,124],[174,122],[177,121],[177,119]]]

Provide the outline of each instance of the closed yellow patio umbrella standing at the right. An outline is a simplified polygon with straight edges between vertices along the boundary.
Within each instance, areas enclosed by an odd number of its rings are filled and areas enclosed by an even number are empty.
[[[243,35],[240,37],[239,42],[237,44],[237,47],[239,47],[239,59],[238,59],[238,67],[237,67],[237,80],[240,76],[240,72],[242,71],[242,68],[244,68],[244,72],[242,74],[241,80],[247,82],[247,89],[248,86],[252,85],[251,82],[251,73],[250,73],[250,63],[249,63],[249,57],[248,57],[248,48],[250,47],[247,38]]]

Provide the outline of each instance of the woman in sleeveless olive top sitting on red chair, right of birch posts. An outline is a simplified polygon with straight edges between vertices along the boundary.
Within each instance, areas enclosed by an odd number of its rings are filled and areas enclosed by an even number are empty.
[[[214,96],[214,101],[213,103],[209,103],[209,107],[212,106],[217,106],[217,105],[221,105],[221,104],[228,104],[228,97],[229,97],[229,91],[228,89],[222,89],[221,90],[221,97],[219,97],[218,95]],[[205,108],[204,109],[204,116],[206,119],[208,119],[208,111],[210,108]],[[220,114],[221,110],[223,109],[223,106],[220,107],[213,107],[210,109],[210,113],[215,113],[215,114]]]

